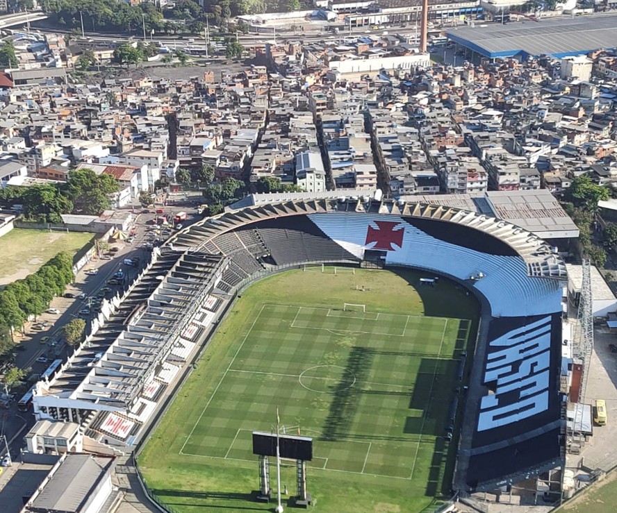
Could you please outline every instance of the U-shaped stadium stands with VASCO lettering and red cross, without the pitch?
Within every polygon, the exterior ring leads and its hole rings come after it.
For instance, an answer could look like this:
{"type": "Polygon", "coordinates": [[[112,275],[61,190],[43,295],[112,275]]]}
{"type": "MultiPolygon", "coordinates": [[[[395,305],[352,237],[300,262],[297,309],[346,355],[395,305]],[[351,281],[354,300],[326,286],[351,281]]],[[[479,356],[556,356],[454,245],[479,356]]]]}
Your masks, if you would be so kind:
{"type": "Polygon", "coordinates": [[[39,382],[42,418],[78,421],[101,446],[130,448],[252,280],[307,263],[413,267],[461,283],[482,303],[454,485],[491,490],[565,464],[559,394],[566,268],[506,221],[441,205],[370,198],[243,208],[177,233],[62,371],[39,382]]]}

